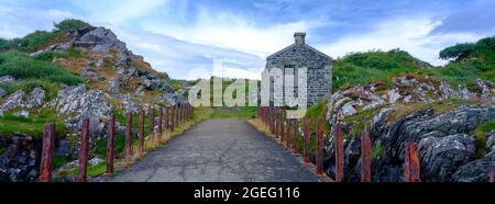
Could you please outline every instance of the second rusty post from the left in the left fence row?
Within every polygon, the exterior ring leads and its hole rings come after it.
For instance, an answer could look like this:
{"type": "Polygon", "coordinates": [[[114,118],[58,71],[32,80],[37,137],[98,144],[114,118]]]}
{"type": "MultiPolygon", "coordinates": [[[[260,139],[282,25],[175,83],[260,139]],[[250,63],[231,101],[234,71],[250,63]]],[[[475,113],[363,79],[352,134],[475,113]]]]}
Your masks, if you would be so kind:
{"type": "Polygon", "coordinates": [[[89,154],[89,118],[82,120],[80,128],[80,146],[79,146],[79,172],[77,174],[77,182],[88,181],[88,154],[89,154]]]}

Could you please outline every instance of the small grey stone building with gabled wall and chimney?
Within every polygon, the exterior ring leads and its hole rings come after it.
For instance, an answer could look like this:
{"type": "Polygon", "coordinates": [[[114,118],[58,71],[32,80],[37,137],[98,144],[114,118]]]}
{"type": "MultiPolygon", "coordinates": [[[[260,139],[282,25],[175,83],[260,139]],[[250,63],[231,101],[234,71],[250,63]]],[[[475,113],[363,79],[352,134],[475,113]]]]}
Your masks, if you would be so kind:
{"type": "MultiPolygon", "coordinates": [[[[331,65],[332,58],[309,46],[305,42],[306,33],[294,34],[295,42],[288,47],[268,56],[266,58],[265,72],[273,68],[279,68],[283,75],[294,75],[295,79],[302,79],[298,76],[299,68],[307,68],[307,105],[314,105],[322,99],[328,99],[331,92],[331,65]]],[[[285,87],[288,86],[286,77],[271,76],[263,77],[263,81],[270,80],[270,104],[274,105],[274,90],[282,95],[278,99],[286,99],[285,87]],[[283,86],[274,86],[275,80],[283,81],[283,86]]],[[[298,81],[294,80],[294,95],[297,98],[305,92],[298,92],[298,81]]],[[[284,101],[287,105],[287,101],[284,101]]],[[[292,106],[292,105],[289,105],[292,106]]]]}

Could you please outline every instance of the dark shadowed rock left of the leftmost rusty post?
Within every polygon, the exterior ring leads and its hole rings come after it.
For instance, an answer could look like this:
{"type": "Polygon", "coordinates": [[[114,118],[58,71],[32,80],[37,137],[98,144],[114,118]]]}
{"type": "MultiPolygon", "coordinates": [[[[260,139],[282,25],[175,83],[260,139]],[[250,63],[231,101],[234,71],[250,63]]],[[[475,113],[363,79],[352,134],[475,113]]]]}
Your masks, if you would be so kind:
{"type": "Polygon", "coordinates": [[[0,181],[34,181],[37,177],[33,138],[15,134],[0,158],[0,181]]]}

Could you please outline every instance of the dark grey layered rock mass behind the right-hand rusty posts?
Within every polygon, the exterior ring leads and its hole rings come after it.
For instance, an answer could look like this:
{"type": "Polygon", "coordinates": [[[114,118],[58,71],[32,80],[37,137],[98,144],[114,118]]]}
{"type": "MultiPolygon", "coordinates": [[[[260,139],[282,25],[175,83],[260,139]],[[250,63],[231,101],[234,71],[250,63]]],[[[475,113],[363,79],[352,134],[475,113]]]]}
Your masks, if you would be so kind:
{"type": "MultiPolygon", "coordinates": [[[[404,178],[404,147],[408,141],[419,145],[422,181],[461,181],[468,174],[486,170],[488,156],[474,160],[476,141],[470,135],[482,123],[495,121],[495,105],[464,105],[437,115],[432,109],[425,109],[400,117],[396,122],[387,120],[393,107],[378,111],[371,120],[371,140],[375,151],[372,174],[374,181],[402,181],[404,178]],[[474,160],[474,161],[473,161],[474,160]],[[476,172],[468,172],[462,167],[481,166],[476,172]],[[455,179],[454,178],[455,174],[455,179]]],[[[349,133],[348,125],[343,131],[349,133]]],[[[334,175],[334,143],[326,143],[326,168],[334,175]]],[[[348,135],[344,139],[345,180],[359,181],[360,140],[359,135],[348,135]]],[[[494,166],[492,166],[494,167],[494,166]]],[[[473,170],[474,171],[474,170],[473,170]]],[[[486,173],[486,172],[485,172],[486,173]]]]}

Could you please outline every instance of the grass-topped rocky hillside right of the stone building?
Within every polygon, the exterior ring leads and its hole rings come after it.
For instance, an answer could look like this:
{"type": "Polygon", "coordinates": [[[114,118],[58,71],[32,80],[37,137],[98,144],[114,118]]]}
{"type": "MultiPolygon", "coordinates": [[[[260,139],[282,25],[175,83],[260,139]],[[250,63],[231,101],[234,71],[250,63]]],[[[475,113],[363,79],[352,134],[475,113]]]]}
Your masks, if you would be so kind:
{"type": "MultiPolygon", "coordinates": [[[[351,54],[333,68],[334,110],[319,104],[310,117],[340,123],[345,138],[345,180],[358,181],[360,136],[371,128],[374,181],[400,181],[406,141],[419,144],[421,180],[486,181],[495,167],[495,38],[459,44],[422,63],[404,50],[351,54]]],[[[327,129],[328,132],[328,129],[327,129]]],[[[333,175],[333,139],[326,144],[333,175]]]]}

